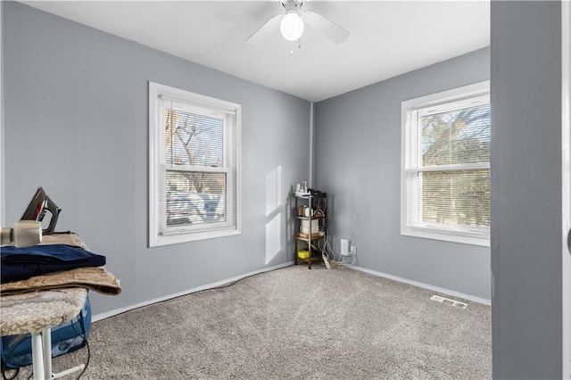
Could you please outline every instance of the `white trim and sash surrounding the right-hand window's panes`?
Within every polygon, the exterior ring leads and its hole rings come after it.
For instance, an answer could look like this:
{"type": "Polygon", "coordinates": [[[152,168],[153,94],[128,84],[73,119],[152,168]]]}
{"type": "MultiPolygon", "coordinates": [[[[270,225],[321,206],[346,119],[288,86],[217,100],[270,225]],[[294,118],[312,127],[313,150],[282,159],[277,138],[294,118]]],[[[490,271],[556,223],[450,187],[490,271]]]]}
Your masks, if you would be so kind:
{"type": "MultiPolygon", "coordinates": [[[[477,95],[488,95],[490,93],[490,81],[476,83],[473,85],[458,87],[448,91],[443,91],[437,94],[420,96],[415,99],[410,99],[401,103],[401,235],[421,237],[434,240],[442,240],[453,243],[472,244],[481,246],[490,246],[490,231],[489,228],[485,230],[478,230],[468,232],[465,230],[454,231],[453,228],[446,228],[443,226],[431,225],[426,223],[422,227],[412,227],[408,222],[409,215],[409,202],[408,202],[408,186],[407,174],[410,169],[417,171],[431,171],[430,168],[418,170],[418,168],[411,168],[410,146],[408,144],[408,133],[410,131],[409,120],[411,109],[421,109],[434,105],[441,109],[445,108],[447,102],[459,102],[462,98],[470,98],[477,95]]],[[[442,169],[489,169],[489,162],[481,162],[475,164],[460,164],[460,165],[447,165],[440,166],[434,170],[442,169]]]]}

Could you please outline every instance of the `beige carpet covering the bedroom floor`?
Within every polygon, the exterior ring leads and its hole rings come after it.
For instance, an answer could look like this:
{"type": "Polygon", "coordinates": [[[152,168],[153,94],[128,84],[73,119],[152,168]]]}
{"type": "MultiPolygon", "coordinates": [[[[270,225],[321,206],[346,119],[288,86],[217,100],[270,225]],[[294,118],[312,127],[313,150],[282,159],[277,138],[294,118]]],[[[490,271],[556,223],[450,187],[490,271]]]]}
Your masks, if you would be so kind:
{"type": "Polygon", "coordinates": [[[349,268],[277,269],[95,322],[81,378],[491,378],[490,307],[433,294],[349,268]]]}

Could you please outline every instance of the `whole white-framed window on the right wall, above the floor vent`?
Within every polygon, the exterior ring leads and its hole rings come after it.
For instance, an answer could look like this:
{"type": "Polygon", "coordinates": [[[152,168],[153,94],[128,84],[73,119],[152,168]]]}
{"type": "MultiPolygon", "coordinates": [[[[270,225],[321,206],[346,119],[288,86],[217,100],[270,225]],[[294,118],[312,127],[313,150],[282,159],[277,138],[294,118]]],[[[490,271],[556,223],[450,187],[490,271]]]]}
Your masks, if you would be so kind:
{"type": "Polygon", "coordinates": [[[401,234],[489,245],[489,82],[403,102],[401,112],[401,234]]]}

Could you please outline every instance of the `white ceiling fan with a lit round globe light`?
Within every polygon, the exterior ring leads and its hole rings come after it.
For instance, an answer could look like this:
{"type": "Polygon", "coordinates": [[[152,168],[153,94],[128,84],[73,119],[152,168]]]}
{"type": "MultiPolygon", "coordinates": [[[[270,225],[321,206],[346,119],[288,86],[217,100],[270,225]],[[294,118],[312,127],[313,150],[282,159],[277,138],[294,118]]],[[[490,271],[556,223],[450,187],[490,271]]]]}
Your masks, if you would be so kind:
{"type": "Polygon", "coordinates": [[[323,17],[318,12],[302,12],[303,0],[281,0],[280,3],[284,6],[285,13],[271,17],[269,21],[266,21],[258,30],[253,32],[252,36],[248,37],[247,42],[258,44],[273,33],[277,27],[279,27],[285,39],[295,41],[302,37],[306,24],[335,42],[335,44],[341,44],[349,37],[347,30],[323,17]]]}

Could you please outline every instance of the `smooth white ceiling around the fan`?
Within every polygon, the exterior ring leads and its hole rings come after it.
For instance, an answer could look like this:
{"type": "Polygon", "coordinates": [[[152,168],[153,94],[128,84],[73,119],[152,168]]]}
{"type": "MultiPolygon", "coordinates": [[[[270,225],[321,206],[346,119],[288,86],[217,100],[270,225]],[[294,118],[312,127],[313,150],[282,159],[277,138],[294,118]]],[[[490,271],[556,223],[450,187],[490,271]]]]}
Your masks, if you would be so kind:
{"type": "Polygon", "coordinates": [[[489,1],[306,1],[351,32],[246,38],[284,8],[261,1],[22,1],[266,87],[320,101],[490,45],[489,1]]]}

